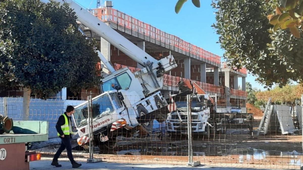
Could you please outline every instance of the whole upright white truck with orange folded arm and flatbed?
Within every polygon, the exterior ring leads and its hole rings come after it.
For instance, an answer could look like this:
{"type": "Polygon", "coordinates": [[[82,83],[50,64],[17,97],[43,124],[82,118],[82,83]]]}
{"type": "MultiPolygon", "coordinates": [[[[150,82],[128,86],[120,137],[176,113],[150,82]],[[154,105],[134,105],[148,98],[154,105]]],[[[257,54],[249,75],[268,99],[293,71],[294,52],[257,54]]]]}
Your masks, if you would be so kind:
{"type": "Polygon", "coordinates": [[[227,127],[249,123],[252,130],[252,113],[242,113],[238,108],[219,108],[217,96],[205,93],[193,81],[179,82],[180,92],[172,95],[171,100],[176,104],[176,110],[168,114],[166,121],[167,132],[171,138],[180,139],[187,132],[187,99],[191,94],[192,134],[198,139],[209,139],[210,135],[225,134],[227,127]]]}

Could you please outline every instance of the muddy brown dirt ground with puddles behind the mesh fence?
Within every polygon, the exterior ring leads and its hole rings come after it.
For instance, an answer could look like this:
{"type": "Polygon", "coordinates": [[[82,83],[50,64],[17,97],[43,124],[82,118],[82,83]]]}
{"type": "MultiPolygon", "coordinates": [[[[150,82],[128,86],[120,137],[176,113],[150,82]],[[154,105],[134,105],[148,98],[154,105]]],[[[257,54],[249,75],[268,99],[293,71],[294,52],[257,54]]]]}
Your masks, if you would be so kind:
{"type": "MultiPolygon", "coordinates": [[[[302,136],[275,134],[255,136],[262,116],[254,116],[253,133],[246,125],[231,125],[225,135],[193,140],[194,161],[203,165],[223,167],[300,169],[303,166],[302,136]],[[302,163],[301,163],[302,162],[302,163]]],[[[106,152],[95,147],[95,158],[110,162],[186,164],[188,140],[160,140],[157,133],[145,138],[118,137],[113,149],[106,152]]],[[[77,146],[77,144],[74,144],[77,146]]],[[[51,158],[59,145],[37,149],[43,157],[51,158]]],[[[79,149],[78,149],[79,150],[79,149]]],[[[87,159],[88,151],[73,151],[77,159],[87,159]]],[[[66,158],[66,153],[63,153],[66,158]]]]}

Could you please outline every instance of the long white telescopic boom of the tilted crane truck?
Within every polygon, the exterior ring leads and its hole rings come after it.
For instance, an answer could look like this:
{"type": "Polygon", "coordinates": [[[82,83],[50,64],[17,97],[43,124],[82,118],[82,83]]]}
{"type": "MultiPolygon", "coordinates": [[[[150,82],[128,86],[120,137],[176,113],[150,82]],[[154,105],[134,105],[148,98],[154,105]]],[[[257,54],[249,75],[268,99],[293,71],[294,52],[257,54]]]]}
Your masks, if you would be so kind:
{"type": "MultiPolygon", "coordinates": [[[[43,3],[48,3],[48,0],[40,0],[43,3]]],[[[73,0],[50,0],[52,2],[67,3],[78,16],[78,21],[83,25],[90,28],[92,31],[97,33],[100,37],[104,38],[110,44],[118,48],[128,57],[141,64],[145,69],[135,74],[136,77],[140,78],[140,83],[145,86],[147,90],[145,95],[154,93],[163,86],[164,73],[177,67],[175,59],[172,55],[156,60],[154,57],[140,49],[134,43],[123,37],[114,29],[103,23],[97,17],[88,12],[87,9],[78,5],[73,0]],[[143,75],[144,74],[144,75],[143,75]]]]}

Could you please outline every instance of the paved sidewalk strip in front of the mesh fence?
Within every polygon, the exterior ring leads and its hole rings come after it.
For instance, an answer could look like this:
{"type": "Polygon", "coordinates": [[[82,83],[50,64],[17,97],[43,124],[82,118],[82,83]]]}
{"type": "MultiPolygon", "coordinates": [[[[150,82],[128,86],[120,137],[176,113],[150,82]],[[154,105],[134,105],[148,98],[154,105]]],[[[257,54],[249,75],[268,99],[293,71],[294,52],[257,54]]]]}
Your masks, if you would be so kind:
{"type": "MultiPolygon", "coordinates": [[[[57,168],[51,165],[50,160],[40,160],[30,162],[29,168],[30,170],[62,170],[62,169],[75,169],[72,168],[72,164],[68,161],[59,161],[59,164],[62,165],[61,168],[57,168]]],[[[82,166],[78,169],[85,170],[134,170],[134,169],[142,169],[142,170],[151,170],[152,168],[157,168],[159,170],[252,170],[252,168],[218,168],[218,167],[210,167],[210,166],[198,166],[195,168],[186,167],[183,165],[165,165],[165,164],[128,164],[128,163],[110,163],[110,162],[97,162],[97,163],[86,163],[86,162],[78,162],[82,163],[82,166]]]]}

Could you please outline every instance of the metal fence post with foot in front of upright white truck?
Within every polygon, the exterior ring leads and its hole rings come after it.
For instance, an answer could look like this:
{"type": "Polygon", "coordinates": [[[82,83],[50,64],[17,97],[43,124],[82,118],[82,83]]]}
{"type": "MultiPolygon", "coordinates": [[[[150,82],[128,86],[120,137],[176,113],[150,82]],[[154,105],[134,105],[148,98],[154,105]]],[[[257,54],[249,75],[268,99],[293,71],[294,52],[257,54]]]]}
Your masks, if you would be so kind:
{"type": "Polygon", "coordinates": [[[200,161],[194,162],[191,129],[191,95],[187,95],[187,133],[188,133],[188,163],[187,166],[198,166],[200,161]]]}

